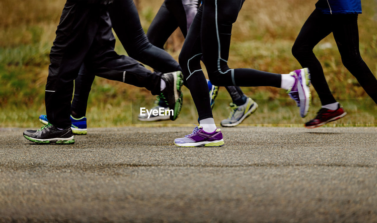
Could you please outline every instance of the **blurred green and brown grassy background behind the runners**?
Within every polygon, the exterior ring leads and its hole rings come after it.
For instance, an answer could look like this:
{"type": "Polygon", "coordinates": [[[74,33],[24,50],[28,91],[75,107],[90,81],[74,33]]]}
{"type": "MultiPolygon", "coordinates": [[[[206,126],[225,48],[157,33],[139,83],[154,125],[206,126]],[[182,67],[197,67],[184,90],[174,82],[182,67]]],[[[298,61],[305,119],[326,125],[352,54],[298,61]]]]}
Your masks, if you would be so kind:
{"type": "MultiPolygon", "coordinates": [[[[141,24],[147,31],[163,0],[135,0],[141,24]]],[[[291,47],[317,0],[246,0],[233,25],[229,66],[288,73],[301,68],[291,47]]],[[[44,88],[49,51],[65,0],[0,0],[0,127],[38,127],[45,114],[44,88]]],[[[377,0],[362,0],[359,15],[360,51],[377,75],[377,0]]],[[[169,38],[166,50],[178,60],[183,44],[180,31],[169,38]]],[[[120,42],[116,52],[127,54],[120,42]]],[[[334,97],[348,115],[328,126],[375,126],[377,106],[342,65],[333,35],[314,48],[334,97]]],[[[302,126],[315,116],[320,103],[314,88],[313,106],[307,118],[299,117],[293,100],[284,90],[270,87],[242,88],[259,104],[244,121],[248,125],[302,126]]],[[[139,126],[140,105],[152,106],[155,97],[142,88],[96,77],[89,96],[87,118],[90,127],[139,126]]],[[[196,123],[197,113],[190,92],[184,88],[184,105],[175,122],[147,125],[196,123]]],[[[220,88],[213,114],[216,123],[226,118],[230,97],[220,88]]],[[[145,125],[140,125],[145,126],[145,125]]]]}

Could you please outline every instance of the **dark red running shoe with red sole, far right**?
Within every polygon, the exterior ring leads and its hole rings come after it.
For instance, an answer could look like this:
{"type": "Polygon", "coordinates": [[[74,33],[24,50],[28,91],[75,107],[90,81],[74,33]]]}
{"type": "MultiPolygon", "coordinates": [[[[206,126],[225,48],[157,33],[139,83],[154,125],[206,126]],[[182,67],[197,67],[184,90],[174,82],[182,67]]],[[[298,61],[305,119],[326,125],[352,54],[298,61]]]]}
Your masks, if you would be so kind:
{"type": "Polygon", "coordinates": [[[330,121],[338,120],[339,118],[343,118],[347,112],[344,111],[343,107],[339,104],[338,109],[336,110],[329,110],[327,108],[321,108],[317,112],[317,116],[312,120],[305,123],[306,128],[317,128],[319,126],[323,126],[330,121]]]}

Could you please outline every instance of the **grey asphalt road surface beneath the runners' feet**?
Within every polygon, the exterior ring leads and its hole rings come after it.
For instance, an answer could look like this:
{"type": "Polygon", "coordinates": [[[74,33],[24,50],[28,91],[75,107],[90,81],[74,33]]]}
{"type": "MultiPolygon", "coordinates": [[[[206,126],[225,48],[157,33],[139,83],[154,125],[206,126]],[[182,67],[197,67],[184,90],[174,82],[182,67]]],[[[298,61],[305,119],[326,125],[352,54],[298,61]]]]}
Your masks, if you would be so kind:
{"type": "Polygon", "coordinates": [[[0,222],[377,222],[377,128],[93,128],[37,145],[0,128],[0,222]]]}

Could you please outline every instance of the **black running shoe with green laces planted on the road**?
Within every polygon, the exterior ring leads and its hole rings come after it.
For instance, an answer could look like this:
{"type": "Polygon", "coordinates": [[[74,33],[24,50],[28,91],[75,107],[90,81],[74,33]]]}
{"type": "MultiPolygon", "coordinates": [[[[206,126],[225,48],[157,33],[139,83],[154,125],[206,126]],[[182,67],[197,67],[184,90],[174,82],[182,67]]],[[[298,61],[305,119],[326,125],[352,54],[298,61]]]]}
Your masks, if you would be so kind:
{"type": "Polygon", "coordinates": [[[57,143],[57,144],[73,144],[75,143],[75,138],[73,136],[72,129],[68,126],[65,129],[58,129],[55,126],[48,123],[42,126],[41,129],[26,130],[23,132],[23,136],[28,140],[35,143],[57,143]]]}

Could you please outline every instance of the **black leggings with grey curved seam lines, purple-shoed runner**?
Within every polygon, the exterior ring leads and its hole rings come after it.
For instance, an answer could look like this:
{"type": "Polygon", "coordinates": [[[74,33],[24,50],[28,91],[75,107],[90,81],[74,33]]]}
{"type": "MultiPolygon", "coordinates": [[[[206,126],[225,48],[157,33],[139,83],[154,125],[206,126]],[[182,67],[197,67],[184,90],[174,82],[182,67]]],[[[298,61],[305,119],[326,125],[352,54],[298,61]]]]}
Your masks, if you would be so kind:
{"type": "Polygon", "coordinates": [[[212,118],[209,94],[200,59],[216,86],[273,86],[280,88],[281,75],[255,69],[230,69],[227,65],[232,24],[244,0],[204,0],[179,54],[199,120],[212,118]],[[195,88],[192,88],[195,86],[195,88]]]}

